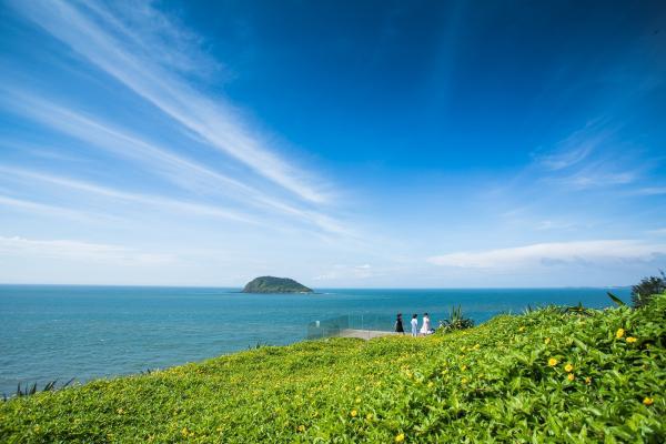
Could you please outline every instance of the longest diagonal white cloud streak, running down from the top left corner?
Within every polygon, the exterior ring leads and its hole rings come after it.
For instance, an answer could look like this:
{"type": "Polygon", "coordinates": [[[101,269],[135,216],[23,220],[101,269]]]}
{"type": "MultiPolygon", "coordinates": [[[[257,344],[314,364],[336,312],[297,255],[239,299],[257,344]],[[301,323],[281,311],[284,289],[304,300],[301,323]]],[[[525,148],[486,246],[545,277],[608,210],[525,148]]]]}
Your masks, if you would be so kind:
{"type": "MultiPolygon", "coordinates": [[[[310,202],[324,202],[326,196],[303,174],[270,150],[265,138],[252,130],[232,105],[221,98],[214,101],[198,92],[178,70],[170,69],[168,60],[180,57],[178,48],[149,40],[151,52],[172,54],[162,57],[161,63],[137,51],[137,41],[150,39],[120,20],[110,20],[102,7],[87,8],[65,1],[22,2],[12,4],[24,17],[47,32],[70,46],[91,63],[115,78],[137,94],[232,158],[250,167],[258,174],[290,190],[310,202]]],[[[128,9],[125,12],[131,12],[128,9]]],[[[152,10],[153,19],[158,11],[152,10]]],[[[141,16],[132,16],[141,20],[141,16]]],[[[169,20],[161,20],[172,27],[169,20]]],[[[150,27],[149,27],[150,29],[150,27]]],[[[173,32],[179,33],[179,30],[173,32]]]]}

